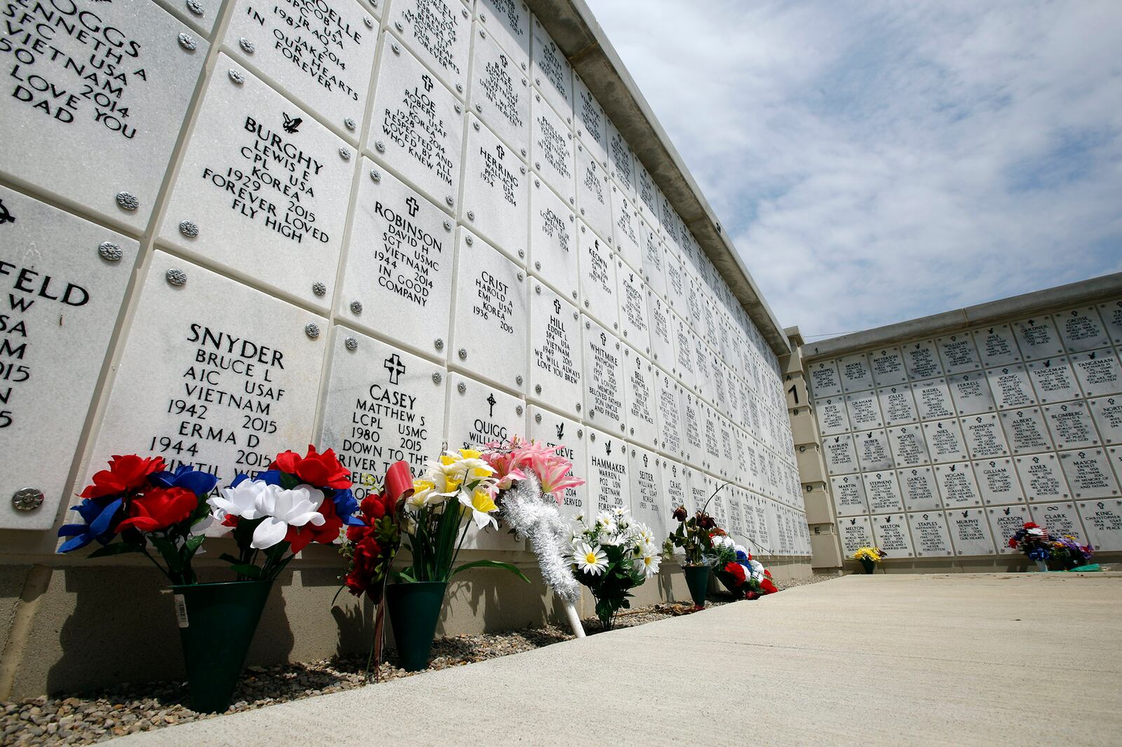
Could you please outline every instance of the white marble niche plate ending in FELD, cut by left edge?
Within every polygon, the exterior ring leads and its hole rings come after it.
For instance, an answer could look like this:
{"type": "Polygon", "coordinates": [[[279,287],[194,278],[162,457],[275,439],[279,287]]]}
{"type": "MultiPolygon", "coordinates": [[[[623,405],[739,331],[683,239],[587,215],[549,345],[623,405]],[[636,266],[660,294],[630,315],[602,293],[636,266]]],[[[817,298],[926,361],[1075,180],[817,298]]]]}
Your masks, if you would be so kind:
{"type": "Polygon", "coordinates": [[[139,247],[6,187],[0,213],[10,218],[0,223],[0,494],[36,488],[44,497],[31,510],[6,499],[0,527],[46,529],[58,514],[139,247]]]}

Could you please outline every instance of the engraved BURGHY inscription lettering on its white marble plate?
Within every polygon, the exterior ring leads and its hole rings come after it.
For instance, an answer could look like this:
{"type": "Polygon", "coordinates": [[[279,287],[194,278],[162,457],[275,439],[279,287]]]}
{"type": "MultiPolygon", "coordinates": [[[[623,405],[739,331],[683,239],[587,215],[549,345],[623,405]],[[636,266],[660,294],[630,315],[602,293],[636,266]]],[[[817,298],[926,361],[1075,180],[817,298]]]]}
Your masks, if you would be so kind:
{"type": "Polygon", "coordinates": [[[203,179],[229,193],[230,210],[242,218],[260,221],[296,243],[305,237],[328,243],[331,237],[314,224],[315,213],[304,205],[315,199],[313,181],[323,164],[252,116],[246,117],[242,129],[254,136],[238,149],[246,163],[204,166],[203,179]]]}

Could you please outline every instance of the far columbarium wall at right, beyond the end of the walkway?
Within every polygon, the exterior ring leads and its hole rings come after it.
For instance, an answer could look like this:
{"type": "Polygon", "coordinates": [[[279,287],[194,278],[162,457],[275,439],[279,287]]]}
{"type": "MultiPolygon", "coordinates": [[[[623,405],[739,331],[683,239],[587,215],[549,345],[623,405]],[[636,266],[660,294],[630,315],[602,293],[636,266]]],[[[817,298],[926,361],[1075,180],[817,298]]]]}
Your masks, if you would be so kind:
{"type": "Polygon", "coordinates": [[[1029,520],[1122,556],[1122,274],[819,342],[791,332],[816,568],[876,544],[888,571],[1014,569],[1006,541],[1029,520]]]}

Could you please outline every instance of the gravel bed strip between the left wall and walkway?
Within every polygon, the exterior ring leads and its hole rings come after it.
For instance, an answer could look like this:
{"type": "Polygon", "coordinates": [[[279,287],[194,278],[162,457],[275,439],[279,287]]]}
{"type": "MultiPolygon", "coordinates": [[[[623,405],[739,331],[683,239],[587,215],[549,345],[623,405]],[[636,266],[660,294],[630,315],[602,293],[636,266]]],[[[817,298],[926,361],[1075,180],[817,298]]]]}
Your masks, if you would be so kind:
{"type": "MultiPolygon", "coordinates": [[[[785,581],[783,587],[825,581],[830,577],[813,577],[785,581]]],[[[710,594],[708,607],[730,602],[730,594],[710,594]]],[[[628,628],[668,617],[689,615],[689,605],[659,603],[625,610],[617,616],[615,627],[628,628]]],[[[589,635],[600,631],[596,618],[583,620],[589,635]]],[[[511,633],[438,638],[432,647],[432,662],[426,672],[463,666],[472,662],[517,654],[572,638],[570,630],[546,626],[511,633]]],[[[395,653],[386,651],[378,671],[380,681],[420,674],[396,666],[395,653]]],[[[273,703],[322,695],[361,688],[366,655],[332,657],[320,662],[249,666],[233,694],[228,713],[248,711],[273,703]]],[[[373,684],[373,682],[371,682],[373,684]]],[[[125,683],[117,688],[81,695],[28,698],[0,702],[0,746],[8,745],[89,745],[137,731],[148,731],[175,723],[213,718],[196,713],[186,706],[183,682],[125,683]]]]}

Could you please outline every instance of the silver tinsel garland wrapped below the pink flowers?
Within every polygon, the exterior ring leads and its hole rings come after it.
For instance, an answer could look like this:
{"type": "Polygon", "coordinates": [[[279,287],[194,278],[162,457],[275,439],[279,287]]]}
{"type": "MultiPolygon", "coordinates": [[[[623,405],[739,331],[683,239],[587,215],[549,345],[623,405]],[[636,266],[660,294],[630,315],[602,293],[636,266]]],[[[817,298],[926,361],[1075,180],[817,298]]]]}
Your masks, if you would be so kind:
{"type": "Polygon", "coordinates": [[[569,561],[569,525],[561,518],[557,501],[542,494],[537,476],[527,471],[525,480],[503,491],[499,505],[503,520],[530,540],[545,584],[565,602],[576,605],[580,584],[569,561]]]}

